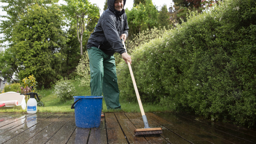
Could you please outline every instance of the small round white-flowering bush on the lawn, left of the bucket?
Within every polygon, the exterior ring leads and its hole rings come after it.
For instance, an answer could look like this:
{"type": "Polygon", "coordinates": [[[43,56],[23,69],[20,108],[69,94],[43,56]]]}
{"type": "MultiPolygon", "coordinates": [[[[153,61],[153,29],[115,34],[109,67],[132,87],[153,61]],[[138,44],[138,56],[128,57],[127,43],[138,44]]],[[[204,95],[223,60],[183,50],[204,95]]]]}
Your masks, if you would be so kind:
{"type": "Polygon", "coordinates": [[[71,83],[71,80],[68,80],[67,77],[57,81],[54,87],[54,95],[57,95],[60,100],[65,101],[73,99],[75,87],[74,84],[71,83]]]}

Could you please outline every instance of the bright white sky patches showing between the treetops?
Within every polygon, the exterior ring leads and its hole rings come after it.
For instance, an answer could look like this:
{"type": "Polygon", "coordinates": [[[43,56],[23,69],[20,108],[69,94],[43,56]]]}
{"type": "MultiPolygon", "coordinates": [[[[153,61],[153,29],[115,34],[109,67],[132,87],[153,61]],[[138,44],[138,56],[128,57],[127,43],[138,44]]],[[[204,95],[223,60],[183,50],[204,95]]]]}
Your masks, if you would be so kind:
{"type": "MultiPolygon", "coordinates": [[[[106,0],[89,0],[92,4],[96,4],[100,8],[100,15],[103,13],[103,8],[106,0]]],[[[158,10],[161,10],[161,7],[166,4],[167,9],[173,5],[172,0],[152,0],[152,3],[158,7],[158,10]]],[[[65,4],[63,0],[60,0],[58,4],[65,4]]],[[[6,12],[3,12],[3,9],[1,6],[5,6],[7,3],[0,2],[0,15],[6,15],[6,12]]],[[[127,0],[124,8],[128,8],[129,10],[132,9],[133,6],[133,0],[127,0]]],[[[0,18],[0,20],[4,20],[3,18],[0,18]]],[[[0,34],[0,39],[3,37],[3,34],[0,34]]]]}

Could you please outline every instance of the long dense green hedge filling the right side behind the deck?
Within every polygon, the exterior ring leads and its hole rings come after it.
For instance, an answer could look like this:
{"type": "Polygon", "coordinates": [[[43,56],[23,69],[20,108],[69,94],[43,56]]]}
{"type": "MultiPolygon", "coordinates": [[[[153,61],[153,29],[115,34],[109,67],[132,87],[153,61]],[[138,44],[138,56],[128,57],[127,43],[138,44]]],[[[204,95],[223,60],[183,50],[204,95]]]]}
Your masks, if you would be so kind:
{"type": "MultiPolygon", "coordinates": [[[[144,102],[212,120],[256,125],[256,2],[226,0],[132,53],[144,102]]],[[[117,67],[121,100],[136,101],[128,66],[117,67]]]]}

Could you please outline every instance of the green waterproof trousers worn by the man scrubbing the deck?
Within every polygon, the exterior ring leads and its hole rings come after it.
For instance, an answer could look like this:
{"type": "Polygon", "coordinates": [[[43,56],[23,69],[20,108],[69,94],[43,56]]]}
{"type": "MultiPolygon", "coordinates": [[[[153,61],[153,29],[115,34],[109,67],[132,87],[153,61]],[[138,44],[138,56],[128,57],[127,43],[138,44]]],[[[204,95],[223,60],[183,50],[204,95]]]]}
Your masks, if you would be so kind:
{"type": "Polygon", "coordinates": [[[97,47],[87,49],[91,70],[91,95],[103,93],[107,109],[121,108],[114,56],[105,54],[97,47]]]}

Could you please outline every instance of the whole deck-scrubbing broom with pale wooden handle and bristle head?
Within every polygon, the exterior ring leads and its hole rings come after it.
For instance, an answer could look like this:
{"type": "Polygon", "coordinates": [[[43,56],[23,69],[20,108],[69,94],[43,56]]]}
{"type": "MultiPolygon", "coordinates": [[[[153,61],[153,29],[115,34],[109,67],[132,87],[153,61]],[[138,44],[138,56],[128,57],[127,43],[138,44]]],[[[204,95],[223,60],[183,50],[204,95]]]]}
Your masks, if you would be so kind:
{"type": "MultiPolygon", "coordinates": [[[[124,39],[122,39],[122,43],[124,45],[124,39]]],[[[126,51],[125,45],[124,45],[124,49],[126,51]]],[[[126,51],[126,53],[127,53],[127,51],[126,51]]],[[[128,63],[128,67],[129,67],[129,70],[130,70],[131,77],[132,77],[132,83],[133,83],[133,86],[134,86],[134,89],[135,89],[137,100],[139,102],[140,112],[141,112],[143,123],[144,123],[144,128],[142,128],[142,129],[135,129],[134,130],[134,135],[137,136],[137,135],[162,134],[163,132],[162,132],[162,128],[161,127],[159,127],[159,128],[150,128],[149,125],[148,125],[148,120],[147,120],[147,117],[145,115],[144,109],[142,107],[139,91],[138,91],[138,88],[137,88],[137,85],[135,83],[135,79],[134,79],[134,76],[133,76],[133,73],[132,73],[131,64],[130,64],[130,62],[127,62],[127,63],[128,63]]]]}

